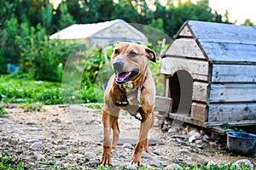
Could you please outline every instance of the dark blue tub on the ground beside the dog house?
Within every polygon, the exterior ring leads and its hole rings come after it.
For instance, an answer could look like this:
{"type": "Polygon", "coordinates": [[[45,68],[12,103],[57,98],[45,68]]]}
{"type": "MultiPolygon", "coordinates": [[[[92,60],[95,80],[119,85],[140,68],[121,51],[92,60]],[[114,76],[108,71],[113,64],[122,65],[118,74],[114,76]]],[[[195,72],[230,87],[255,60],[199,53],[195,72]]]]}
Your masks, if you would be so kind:
{"type": "Polygon", "coordinates": [[[253,133],[227,132],[227,146],[230,151],[254,155],[256,153],[256,135],[253,133]]]}

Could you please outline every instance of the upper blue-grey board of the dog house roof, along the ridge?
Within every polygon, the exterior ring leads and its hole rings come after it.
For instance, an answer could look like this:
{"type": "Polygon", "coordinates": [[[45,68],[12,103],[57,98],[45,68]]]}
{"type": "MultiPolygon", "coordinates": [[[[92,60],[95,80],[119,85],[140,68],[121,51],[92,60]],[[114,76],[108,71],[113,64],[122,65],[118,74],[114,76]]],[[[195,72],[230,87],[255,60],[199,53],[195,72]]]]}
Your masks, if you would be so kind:
{"type": "Polygon", "coordinates": [[[196,38],[207,42],[256,44],[256,28],[213,22],[189,20],[190,30],[196,38]]]}

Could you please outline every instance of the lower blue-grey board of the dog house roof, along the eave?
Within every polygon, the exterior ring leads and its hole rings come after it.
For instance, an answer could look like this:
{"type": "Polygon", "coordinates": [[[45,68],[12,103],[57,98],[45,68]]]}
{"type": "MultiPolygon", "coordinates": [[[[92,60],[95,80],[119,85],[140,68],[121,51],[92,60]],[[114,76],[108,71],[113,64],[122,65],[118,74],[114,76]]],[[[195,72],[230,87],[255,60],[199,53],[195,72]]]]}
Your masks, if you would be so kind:
{"type": "MultiPolygon", "coordinates": [[[[201,48],[212,62],[253,63],[256,62],[256,45],[227,42],[201,42],[201,48]]],[[[255,41],[256,42],[256,41],[255,41]]]]}

